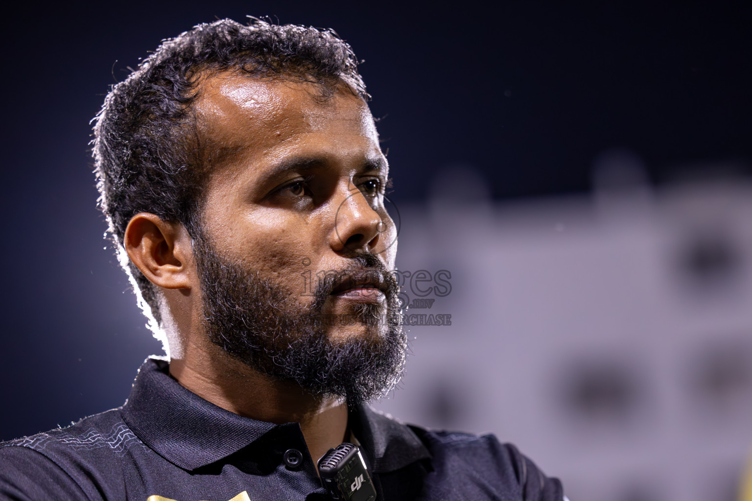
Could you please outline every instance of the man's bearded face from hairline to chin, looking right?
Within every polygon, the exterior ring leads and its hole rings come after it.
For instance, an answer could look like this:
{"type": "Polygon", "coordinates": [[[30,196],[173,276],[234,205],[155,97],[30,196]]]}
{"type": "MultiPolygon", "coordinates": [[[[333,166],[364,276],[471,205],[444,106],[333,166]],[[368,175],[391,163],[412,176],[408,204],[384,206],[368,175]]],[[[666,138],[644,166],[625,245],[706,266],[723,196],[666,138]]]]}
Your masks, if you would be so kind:
{"type": "Polygon", "coordinates": [[[334,380],[390,385],[404,361],[388,321],[399,301],[387,161],[360,98],[316,92],[233,74],[203,84],[199,137],[214,158],[194,251],[215,343],[270,376],[365,400],[378,388],[334,380]],[[329,382],[288,367],[306,364],[329,382]]]}

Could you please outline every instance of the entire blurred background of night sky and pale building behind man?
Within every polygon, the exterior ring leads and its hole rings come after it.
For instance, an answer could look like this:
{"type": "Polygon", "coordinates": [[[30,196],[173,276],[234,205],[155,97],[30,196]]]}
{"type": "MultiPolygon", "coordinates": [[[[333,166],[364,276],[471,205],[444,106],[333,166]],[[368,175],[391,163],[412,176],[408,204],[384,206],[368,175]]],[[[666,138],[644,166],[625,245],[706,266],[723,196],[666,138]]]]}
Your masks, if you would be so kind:
{"type": "Polygon", "coordinates": [[[496,433],[573,501],[736,499],[752,452],[741,2],[15,5],[0,439],[122,405],[161,353],[102,240],[89,119],[162,38],[245,14],[332,27],[365,59],[408,313],[428,323],[379,409],[496,433]]]}

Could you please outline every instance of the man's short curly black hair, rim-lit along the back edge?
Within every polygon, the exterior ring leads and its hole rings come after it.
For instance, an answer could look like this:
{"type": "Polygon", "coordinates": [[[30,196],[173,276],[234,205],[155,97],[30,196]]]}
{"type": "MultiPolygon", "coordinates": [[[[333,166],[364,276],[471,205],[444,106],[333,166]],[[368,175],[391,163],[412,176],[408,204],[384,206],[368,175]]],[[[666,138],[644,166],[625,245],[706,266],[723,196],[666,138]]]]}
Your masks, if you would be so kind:
{"type": "Polygon", "coordinates": [[[369,99],[353,50],[333,30],[249,18],[247,26],[218,20],[162,41],[136,71],[112,87],[93,119],[94,172],[107,235],[129,274],[138,306],[160,338],[159,294],[130,262],[123,236],[130,219],[141,212],[179,222],[193,238],[200,231],[202,186],[211,169],[211,154],[200,144],[192,109],[202,75],[236,71],[305,81],[317,87],[315,96],[323,100],[344,84],[369,99]]]}

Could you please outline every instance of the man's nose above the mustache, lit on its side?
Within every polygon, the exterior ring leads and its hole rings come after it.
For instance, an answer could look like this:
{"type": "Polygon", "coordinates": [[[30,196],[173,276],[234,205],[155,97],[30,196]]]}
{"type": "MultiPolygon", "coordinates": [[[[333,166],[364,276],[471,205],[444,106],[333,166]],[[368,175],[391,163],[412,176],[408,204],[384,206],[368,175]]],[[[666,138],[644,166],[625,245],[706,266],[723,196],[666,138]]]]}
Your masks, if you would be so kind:
{"type": "Polygon", "coordinates": [[[329,245],[335,252],[350,252],[356,249],[373,251],[378,245],[387,222],[371,207],[360,191],[345,189],[335,202],[334,231],[329,236],[329,245]]]}

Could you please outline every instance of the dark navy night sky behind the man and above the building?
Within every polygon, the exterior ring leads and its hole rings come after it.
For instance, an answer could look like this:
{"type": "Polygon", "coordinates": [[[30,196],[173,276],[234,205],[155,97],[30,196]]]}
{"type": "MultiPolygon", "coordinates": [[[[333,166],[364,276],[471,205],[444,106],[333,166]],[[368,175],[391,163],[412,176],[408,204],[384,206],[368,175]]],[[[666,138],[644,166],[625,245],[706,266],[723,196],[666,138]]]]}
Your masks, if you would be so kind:
{"type": "Polygon", "coordinates": [[[102,249],[89,119],[162,38],[245,14],[331,26],[365,59],[398,201],[448,164],[516,198],[587,191],[614,147],[657,183],[752,161],[748,3],[27,2],[3,32],[0,439],[120,405],[158,351],[102,249]]]}

